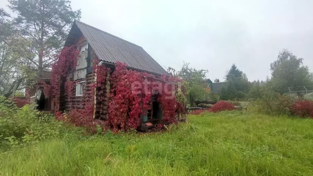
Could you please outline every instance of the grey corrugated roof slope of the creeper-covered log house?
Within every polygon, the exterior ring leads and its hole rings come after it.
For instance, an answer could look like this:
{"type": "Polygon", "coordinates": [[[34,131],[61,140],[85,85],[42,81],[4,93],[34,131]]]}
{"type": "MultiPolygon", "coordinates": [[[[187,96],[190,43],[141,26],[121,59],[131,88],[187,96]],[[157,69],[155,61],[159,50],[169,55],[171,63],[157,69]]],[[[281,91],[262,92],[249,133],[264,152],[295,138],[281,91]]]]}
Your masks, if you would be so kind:
{"type": "Polygon", "coordinates": [[[120,61],[126,63],[130,68],[156,74],[167,74],[167,71],[142,47],[78,20],[74,21],[75,24],[100,60],[109,63],[120,61]]]}

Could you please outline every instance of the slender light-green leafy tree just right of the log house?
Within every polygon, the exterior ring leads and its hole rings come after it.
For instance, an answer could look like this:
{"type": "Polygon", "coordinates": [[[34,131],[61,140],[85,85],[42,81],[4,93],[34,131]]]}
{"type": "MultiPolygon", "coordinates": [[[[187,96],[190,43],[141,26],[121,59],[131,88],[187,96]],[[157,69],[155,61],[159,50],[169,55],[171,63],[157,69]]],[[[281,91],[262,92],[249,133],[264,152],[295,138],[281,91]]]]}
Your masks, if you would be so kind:
{"type": "Polygon", "coordinates": [[[194,106],[194,101],[203,98],[205,91],[205,74],[207,70],[195,69],[189,67],[189,63],[183,64],[181,70],[177,73],[177,76],[182,78],[185,82],[187,89],[187,100],[190,106],[194,106]]]}

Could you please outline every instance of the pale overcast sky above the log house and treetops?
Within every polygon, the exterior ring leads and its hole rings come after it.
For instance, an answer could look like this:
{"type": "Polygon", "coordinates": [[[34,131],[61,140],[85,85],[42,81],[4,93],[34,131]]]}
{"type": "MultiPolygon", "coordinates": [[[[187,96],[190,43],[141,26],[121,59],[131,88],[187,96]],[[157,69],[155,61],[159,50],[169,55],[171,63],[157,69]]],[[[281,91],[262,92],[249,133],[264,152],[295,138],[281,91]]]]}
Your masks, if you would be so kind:
{"type": "Polygon", "coordinates": [[[250,81],[264,80],[286,48],[313,71],[313,0],[72,0],[72,8],[164,68],[185,61],[222,81],[235,63],[250,81]]]}

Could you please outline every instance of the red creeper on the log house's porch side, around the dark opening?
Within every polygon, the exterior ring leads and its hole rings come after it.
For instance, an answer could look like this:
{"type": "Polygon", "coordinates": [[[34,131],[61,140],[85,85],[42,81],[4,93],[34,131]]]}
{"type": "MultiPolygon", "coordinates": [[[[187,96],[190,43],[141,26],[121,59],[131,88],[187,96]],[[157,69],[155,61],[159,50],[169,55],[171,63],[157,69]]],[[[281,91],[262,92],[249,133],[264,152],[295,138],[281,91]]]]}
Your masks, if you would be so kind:
{"type": "Polygon", "coordinates": [[[182,91],[175,91],[175,84],[166,87],[168,81],[179,80],[163,75],[164,82],[160,83],[162,84],[160,88],[156,82],[148,83],[149,79],[153,80],[153,78],[153,75],[147,73],[128,70],[125,63],[115,64],[115,70],[110,77],[111,95],[105,122],[110,129],[113,131],[136,129],[140,124],[140,115],[145,114],[146,109],[151,105],[152,89],[159,92],[158,101],[161,103],[164,120],[175,122],[176,111],[184,113],[185,99],[182,91]]]}

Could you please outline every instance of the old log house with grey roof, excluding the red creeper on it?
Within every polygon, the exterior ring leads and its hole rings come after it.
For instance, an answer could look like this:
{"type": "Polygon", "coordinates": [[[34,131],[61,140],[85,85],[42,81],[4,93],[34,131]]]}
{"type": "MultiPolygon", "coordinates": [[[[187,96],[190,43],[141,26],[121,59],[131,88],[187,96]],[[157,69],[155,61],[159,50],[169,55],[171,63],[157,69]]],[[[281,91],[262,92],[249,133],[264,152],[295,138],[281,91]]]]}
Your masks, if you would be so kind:
{"type": "MultiPolygon", "coordinates": [[[[164,79],[161,79],[164,77],[161,76],[169,75],[142,47],[78,20],[74,21],[65,42],[65,47],[73,45],[79,49],[80,57],[77,58],[77,66],[74,72],[69,74],[67,78],[62,78],[59,98],[54,100],[58,103],[57,105],[51,105],[53,107],[52,111],[56,108],[60,112],[84,109],[88,103],[93,101],[93,118],[105,120],[109,112],[111,96],[114,94],[111,92],[110,77],[115,70],[116,63],[126,63],[127,69],[151,75],[149,77],[150,81],[156,80],[165,83],[164,79]],[[101,88],[92,87],[97,82],[97,78],[101,76],[95,74],[96,68],[92,65],[95,61],[98,61],[96,62],[98,66],[103,65],[105,68],[110,68],[105,73],[101,73],[106,77],[106,81],[101,85],[101,88]],[[66,80],[74,81],[76,84],[74,92],[71,93],[72,95],[68,95],[66,80]],[[86,91],[93,90],[93,88],[95,89],[94,94],[84,95],[86,91]]],[[[146,109],[146,115],[140,116],[138,128],[146,130],[157,124],[167,123],[165,122],[166,119],[163,119],[158,96],[158,94],[151,96],[151,107],[146,109]]],[[[174,107],[177,108],[177,106],[174,107]]],[[[176,110],[176,112],[178,111],[176,110]]],[[[179,117],[179,113],[177,116],[179,117]]]]}

